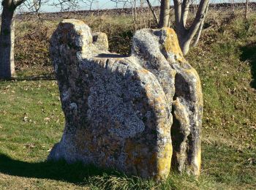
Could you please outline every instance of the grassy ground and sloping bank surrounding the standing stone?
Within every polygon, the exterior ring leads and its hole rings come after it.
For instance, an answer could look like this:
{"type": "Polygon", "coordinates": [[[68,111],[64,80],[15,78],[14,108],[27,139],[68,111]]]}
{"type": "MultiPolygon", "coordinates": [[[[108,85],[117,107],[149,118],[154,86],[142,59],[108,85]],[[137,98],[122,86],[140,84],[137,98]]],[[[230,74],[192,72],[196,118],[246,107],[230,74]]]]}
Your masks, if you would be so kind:
{"type": "MultiPolygon", "coordinates": [[[[129,18],[84,20],[108,34],[110,50],[129,54],[129,18]]],[[[35,23],[17,25],[18,77],[0,81],[0,189],[256,189],[254,15],[247,21],[213,15],[206,20],[212,27],[187,56],[203,85],[201,175],[196,180],[173,172],[164,183],[80,163],[45,161],[64,128],[48,58],[48,40],[57,23],[45,22],[39,31],[35,23]]]]}

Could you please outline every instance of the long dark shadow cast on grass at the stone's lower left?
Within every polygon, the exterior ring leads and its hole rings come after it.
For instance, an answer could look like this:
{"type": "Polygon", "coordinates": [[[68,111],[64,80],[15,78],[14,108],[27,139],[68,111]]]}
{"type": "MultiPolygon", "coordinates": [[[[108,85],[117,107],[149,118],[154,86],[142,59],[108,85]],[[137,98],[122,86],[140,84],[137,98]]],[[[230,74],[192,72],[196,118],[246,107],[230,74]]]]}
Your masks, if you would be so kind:
{"type": "Polygon", "coordinates": [[[29,163],[12,159],[4,154],[0,154],[0,172],[25,178],[62,180],[79,185],[86,185],[86,179],[97,175],[122,176],[113,170],[102,170],[94,166],[84,166],[82,163],[67,164],[65,161],[29,163]]]}

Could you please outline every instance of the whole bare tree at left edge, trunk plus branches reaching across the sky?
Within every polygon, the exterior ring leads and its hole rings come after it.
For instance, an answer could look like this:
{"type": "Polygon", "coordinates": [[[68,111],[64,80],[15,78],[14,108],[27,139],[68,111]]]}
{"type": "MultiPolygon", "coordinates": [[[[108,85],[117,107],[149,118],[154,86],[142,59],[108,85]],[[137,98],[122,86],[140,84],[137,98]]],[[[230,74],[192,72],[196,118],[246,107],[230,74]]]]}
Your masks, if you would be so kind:
{"type": "MultiPolygon", "coordinates": [[[[78,7],[80,2],[89,2],[90,6],[96,0],[56,0],[53,4],[60,9],[78,7]]],[[[42,3],[49,0],[2,0],[1,31],[0,31],[0,79],[10,79],[15,76],[14,44],[15,44],[15,10],[21,4],[29,12],[38,12],[42,3]]]]}

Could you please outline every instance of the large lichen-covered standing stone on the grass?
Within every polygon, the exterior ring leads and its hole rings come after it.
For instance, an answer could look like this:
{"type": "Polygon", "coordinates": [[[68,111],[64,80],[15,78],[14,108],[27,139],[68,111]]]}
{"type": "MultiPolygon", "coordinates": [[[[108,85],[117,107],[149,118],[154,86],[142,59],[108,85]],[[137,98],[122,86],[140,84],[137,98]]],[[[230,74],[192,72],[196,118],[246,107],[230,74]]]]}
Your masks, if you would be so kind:
{"type": "Polygon", "coordinates": [[[110,53],[105,34],[64,20],[50,54],[66,119],[49,160],[83,161],[142,178],[170,168],[199,175],[203,96],[173,29],[143,29],[129,57],[110,53]]]}

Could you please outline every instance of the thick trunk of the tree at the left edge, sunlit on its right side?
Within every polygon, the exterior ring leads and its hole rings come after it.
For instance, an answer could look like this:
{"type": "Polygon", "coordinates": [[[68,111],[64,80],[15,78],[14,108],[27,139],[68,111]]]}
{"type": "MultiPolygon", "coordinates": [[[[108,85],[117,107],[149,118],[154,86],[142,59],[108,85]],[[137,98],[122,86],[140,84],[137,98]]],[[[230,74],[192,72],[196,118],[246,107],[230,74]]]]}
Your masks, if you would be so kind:
{"type": "Polygon", "coordinates": [[[10,79],[15,75],[14,41],[14,9],[3,6],[0,33],[0,78],[10,79]]]}

